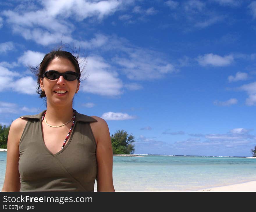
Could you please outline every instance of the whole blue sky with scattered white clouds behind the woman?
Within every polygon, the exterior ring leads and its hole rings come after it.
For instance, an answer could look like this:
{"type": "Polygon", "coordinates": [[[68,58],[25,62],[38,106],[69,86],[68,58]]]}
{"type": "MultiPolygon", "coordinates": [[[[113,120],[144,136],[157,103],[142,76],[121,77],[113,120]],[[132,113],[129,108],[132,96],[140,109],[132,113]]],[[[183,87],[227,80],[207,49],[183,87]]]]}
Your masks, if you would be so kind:
{"type": "Polygon", "coordinates": [[[62,42],[80,48],[85,67],[74,109],[104,118],[110,134],[133,134],[136,154],[252,155],[256,1],[10,0],[0,7],[1,124],[46,109],[27,66],[62,42]]]}

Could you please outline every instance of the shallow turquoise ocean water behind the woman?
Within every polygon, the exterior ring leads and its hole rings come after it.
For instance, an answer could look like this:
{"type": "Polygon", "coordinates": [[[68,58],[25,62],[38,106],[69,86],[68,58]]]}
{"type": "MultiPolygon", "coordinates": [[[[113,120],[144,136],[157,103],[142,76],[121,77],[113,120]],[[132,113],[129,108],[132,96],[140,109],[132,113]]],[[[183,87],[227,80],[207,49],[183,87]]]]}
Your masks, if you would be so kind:
{"type": "MultiPolygon", "coordinates": [[[[0,188],[4,181],[6,154],[0,152],[0,188]]],[[[113,157],[115,191],[196,191],[256,180],[255,158],[141,156],[113,157]]]]}

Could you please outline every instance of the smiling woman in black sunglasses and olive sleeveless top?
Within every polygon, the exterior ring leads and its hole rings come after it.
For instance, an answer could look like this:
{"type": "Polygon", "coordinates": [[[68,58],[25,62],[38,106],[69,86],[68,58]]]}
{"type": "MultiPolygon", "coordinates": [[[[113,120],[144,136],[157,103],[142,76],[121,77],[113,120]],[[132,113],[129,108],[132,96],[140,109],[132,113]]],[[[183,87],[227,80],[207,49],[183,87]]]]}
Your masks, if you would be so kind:
{"type": "Polygon", "coordinates": [[[80,86],[76,57],[59,48],[38,69],[38,94],[47,109],[10,126],[2,191],[115,191],[107,123],[72,108],[80,86]]]}

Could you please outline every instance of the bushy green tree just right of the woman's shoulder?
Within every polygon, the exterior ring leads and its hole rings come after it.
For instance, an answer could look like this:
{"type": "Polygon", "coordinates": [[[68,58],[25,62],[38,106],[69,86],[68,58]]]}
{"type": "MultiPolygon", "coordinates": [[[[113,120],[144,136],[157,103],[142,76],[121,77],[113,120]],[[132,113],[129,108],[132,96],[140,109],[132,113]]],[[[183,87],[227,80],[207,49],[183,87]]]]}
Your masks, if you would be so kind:
{"type": "Polygon", "coordinates": [[[113,154],[133,154],[135,138],[132,134],[128,135],[125,130],[117,130],[111,135],[113,154]]]}

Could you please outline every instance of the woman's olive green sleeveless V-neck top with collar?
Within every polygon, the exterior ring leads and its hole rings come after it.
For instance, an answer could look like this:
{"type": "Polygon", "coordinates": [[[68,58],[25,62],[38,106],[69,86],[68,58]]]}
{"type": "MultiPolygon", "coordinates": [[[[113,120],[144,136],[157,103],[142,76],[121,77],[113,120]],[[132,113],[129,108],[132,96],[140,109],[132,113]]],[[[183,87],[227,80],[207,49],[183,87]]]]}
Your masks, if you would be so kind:
{"type": "Polygon", "coordinates": [[[90,122],[76,112],[70,138],[52,154],[42,136],[42,115],[21,116],[27,123],[19,142],[20,191],[94,191],[96,143],[90,122]]]}

